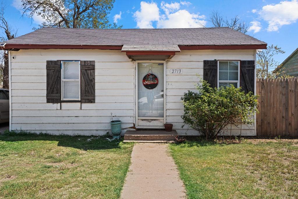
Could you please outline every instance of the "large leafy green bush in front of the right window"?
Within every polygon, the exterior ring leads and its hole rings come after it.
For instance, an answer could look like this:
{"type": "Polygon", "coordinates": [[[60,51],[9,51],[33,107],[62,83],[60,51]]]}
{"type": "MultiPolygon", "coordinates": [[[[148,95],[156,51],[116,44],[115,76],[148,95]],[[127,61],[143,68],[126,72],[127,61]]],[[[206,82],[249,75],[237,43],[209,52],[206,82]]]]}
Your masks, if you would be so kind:
{"type": "Polygon", "coordinates": [[[221,135],[228,125],[252,124],[257,112],[258,95],[245,94],[241,88],[211,88],[207,81],[200,80],[198,92],[189,91],[181,98],[184,115],[181,118],[201,135],[214,138],[221,135]]]}

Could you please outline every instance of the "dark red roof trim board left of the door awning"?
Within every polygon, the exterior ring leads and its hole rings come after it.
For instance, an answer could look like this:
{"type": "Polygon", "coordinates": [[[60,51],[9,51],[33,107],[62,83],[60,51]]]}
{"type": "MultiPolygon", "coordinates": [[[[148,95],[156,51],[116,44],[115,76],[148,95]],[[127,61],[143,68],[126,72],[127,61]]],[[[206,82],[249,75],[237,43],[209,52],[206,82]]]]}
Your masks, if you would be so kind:
{"type": "Polygon", "coordinates": [[[121,50],[122,46],[6,44],[3,49],[4,50],[8,50],[8,49],[102,49],[102,50],[121,50]]]}

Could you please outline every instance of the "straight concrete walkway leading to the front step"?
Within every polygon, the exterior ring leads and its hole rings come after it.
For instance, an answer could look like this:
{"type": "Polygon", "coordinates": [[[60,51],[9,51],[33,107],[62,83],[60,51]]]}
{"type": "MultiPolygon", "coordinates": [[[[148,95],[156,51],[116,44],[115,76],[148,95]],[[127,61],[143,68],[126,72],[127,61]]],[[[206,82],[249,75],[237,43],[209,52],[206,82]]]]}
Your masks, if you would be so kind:
{"type": "Polygon", "coordinates": [[[167,144],[137,143],[121,198],[186,198],[167,144]]]}

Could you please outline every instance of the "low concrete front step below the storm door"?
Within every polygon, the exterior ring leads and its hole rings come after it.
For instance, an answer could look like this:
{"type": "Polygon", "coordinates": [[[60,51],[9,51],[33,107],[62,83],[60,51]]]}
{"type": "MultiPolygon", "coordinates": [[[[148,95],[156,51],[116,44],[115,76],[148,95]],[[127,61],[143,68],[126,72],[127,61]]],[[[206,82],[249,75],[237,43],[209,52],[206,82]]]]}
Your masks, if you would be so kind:
{"type": "Polygon", "coordinates": [[[163,130],[137,130],[126,131],[124,141],[175,141],[176,131],[166,132],[163,130]]]}

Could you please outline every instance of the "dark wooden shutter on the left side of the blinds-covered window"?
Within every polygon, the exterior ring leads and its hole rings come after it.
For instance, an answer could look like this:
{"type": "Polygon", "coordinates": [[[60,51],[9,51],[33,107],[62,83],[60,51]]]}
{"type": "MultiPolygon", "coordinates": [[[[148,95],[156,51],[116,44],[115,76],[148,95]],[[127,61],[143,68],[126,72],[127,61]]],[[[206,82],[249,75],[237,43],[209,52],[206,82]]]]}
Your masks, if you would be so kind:
{"type": "Polygon", "coordinates": [[[46,102],[61,102],[61,61],[46,61],[46,102]]]}

